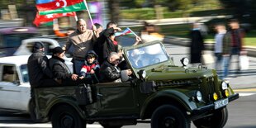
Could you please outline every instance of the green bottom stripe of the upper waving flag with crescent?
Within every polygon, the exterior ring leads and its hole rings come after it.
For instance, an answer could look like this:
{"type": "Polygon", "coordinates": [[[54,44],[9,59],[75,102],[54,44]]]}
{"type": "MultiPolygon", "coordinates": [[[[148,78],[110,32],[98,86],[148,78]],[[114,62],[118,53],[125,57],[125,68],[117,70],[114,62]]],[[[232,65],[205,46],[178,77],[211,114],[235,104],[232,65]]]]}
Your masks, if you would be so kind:
{"type": "Polygon", "coordinates": [[[64,13],[64,12],[77,12],[77,11],[81,11],[81,10],[87,10],[87,8],[85,7],[83,2],[79,2],[72,6],[58,8],[55,10],[44,11],[44,12],[39,11],[39,15],[47,15],[47,14],[52,14],[52,13],[64,13]]]}

